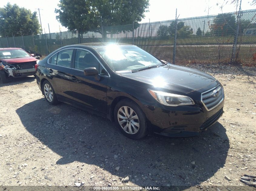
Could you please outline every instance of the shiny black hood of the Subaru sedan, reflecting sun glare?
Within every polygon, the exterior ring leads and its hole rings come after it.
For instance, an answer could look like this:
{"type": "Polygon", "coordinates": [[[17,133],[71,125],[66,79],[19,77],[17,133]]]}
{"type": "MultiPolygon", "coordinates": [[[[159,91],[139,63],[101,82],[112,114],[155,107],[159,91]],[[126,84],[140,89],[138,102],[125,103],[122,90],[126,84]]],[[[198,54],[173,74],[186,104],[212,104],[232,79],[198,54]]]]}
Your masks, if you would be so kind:
{"type": "MultiPolygon", "coordinates": [[[[196,69],[168,64],[131,74],[121,74],[126,78],[144,82],[155,88],[165,88],[188,93],[218,82],[213,76],[196,69]]],[[[216,83],[217,84],[217,83],[216,83]]]]}

